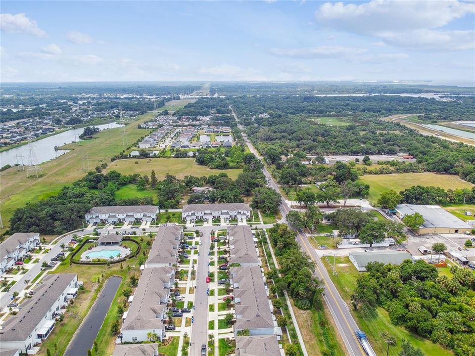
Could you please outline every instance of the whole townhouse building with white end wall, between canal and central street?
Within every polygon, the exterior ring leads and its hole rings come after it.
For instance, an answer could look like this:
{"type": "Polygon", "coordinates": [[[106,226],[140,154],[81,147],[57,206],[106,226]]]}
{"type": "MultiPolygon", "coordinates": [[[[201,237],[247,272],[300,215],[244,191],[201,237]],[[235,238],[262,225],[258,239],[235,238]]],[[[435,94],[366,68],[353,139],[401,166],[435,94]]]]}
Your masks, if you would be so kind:
{"type": "Polygon", "coordinates": [[[163,319],[174,283],[174,267],[143,269],[130,308],[123,316],[122,342],[148,341],[150,332],[157,334],[160,341],[163,339],[163,319]]]}

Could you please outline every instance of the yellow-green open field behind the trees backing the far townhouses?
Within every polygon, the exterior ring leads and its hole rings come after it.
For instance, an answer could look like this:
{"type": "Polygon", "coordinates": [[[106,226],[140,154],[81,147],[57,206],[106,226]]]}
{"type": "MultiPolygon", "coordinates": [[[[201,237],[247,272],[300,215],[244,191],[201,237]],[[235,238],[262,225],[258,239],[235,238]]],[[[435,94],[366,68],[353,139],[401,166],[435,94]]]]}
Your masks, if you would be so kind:
{"type": "Polygon", "coordinates": [[[211,176],[226,173],[230,178],[236,179],[241,169],[213,170],[206,166],[197,165],[193,158],[152,158],[151,162],[146,159],[122,159],[112,162],[107,171],[114,170],[122,174],[140,173],[150,176],[150,172],[155,170],[157,179],[165,178],[166,174],[185,178],[185,176],[211,176]],[[138,163],[135,163],[138,162],[138,163]]]}

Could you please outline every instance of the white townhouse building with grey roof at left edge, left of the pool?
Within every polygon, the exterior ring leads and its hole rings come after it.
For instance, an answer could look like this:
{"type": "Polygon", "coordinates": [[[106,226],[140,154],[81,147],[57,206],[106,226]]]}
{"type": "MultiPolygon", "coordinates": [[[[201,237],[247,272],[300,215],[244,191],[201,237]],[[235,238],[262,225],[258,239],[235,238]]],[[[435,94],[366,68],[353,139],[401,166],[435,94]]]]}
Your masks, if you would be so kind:
{"type": "Polygon", "coordinates": [[[38,232],[17,232],[0,243],[0,274],[40,244],[38,232]]]}

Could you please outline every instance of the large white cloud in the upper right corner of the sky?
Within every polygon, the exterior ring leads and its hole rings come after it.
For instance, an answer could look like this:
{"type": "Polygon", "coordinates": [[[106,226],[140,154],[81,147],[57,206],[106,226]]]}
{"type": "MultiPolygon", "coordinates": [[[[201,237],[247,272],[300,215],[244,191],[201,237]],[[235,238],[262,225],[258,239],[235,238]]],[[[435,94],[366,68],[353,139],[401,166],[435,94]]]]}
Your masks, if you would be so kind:
{"type": "Polygon", "coordinates": [[[326,2],[315,15],[323,26],[377,37],[389,45],[445,51],[474,47],[473,29],[440,29],[471,13],[475,13],[475,3],[458,0],[371,0],[362,4],[326,2]]]}

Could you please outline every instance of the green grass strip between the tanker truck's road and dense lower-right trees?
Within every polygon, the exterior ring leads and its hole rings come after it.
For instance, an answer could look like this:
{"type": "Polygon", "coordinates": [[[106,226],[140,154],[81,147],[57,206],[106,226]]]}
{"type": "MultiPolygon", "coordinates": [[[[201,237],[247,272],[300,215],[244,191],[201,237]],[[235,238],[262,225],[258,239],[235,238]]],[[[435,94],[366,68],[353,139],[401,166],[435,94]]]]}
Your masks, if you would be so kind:
{"type": "Polygon", "coordinates": [[[388,313],[382,308],[377,308],[374,312],[365,309],[355,312],[351,306],[350,296],[356,287],[356,280],[360,272],[356,270],[348,257],[336,257],[336,275],[332,274],[333,257],[323,257],[322,261],[329,271],[333,283],[355,317],[358,326],[368,335],[376,355],[386,355],[387,344],[381,337],[381,333],[384,332],[386,335],[396,339],[396,346],[391,347],[390,355],[399,355],[402,340],[405,339],[414,347],[422,349],[424,355],[453,356],[451,351],[413,334],[402,327],[392,324],[388,313]]]}

